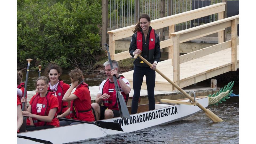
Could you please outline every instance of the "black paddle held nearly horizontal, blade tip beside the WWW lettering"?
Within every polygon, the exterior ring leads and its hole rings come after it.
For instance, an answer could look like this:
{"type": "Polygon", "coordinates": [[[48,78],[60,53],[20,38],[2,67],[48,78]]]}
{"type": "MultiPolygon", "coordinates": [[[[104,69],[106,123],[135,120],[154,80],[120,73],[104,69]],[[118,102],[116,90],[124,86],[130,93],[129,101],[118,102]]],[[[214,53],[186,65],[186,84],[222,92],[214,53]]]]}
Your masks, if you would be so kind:
{"type": "Polygon", "coordinates": [[[103,122],[103,121],[87,122],[87,121],[79,121],[79,120],[67,119],[67,118],[59,118],[59,120],[88,123],[88,124],[96,125],[98,127],[102,127],[104,129],[123,131],[123,129],[120,126],[120,124],[116,123],[116,122],[103,122]]]}

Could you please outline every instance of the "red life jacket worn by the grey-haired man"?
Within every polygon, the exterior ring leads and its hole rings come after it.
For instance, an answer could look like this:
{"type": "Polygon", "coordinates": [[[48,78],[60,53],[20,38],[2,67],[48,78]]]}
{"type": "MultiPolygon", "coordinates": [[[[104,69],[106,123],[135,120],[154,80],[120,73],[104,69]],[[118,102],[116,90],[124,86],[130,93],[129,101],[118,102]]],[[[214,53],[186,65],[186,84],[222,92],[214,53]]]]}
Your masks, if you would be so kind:
{"type": "MultiPolygon", "coordinates": [[[[121,79],[125,78],[123,76],[120,77],[121,79]]],[[[123,98],[125,99],[125,102],[127,103],[129,94],[126,95],[125,92],[120,87],[119,81],[117,81],[118,86],[121,90],[121,93],[123,95],[123,98]]],[[[116,96],[116,90],[115,90],[115,84],[113,82],[109,81],[109,78],[107,81],[104,83],[103,88],[102,88],[102,94],[108,94],[110,97],[106,100],[103,100],[103,105],[107,107],[108,109],[114,109],[114,110],[119,110],[118,105],[117,105],[117,96],[116,96]]]]}

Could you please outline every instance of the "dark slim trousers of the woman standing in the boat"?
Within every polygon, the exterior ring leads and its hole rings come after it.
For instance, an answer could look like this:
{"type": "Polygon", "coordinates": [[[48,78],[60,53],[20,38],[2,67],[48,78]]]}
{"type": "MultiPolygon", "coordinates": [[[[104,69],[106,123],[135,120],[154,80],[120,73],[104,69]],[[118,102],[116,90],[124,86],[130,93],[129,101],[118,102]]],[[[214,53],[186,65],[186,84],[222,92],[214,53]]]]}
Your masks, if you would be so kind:
{"type": "Polygon", "coordinates": [[[150,67],[139,67],[134,66],[133,71],[133,101],[131,103],[131,114],[136,114],[138,109],[138,101],[141,92],[141,85],[143,82],[143,77],[146,75],[147,84],[147,95],[149,99],[149,110],[155,109],[155,71],[150,69],[150,67]]]}

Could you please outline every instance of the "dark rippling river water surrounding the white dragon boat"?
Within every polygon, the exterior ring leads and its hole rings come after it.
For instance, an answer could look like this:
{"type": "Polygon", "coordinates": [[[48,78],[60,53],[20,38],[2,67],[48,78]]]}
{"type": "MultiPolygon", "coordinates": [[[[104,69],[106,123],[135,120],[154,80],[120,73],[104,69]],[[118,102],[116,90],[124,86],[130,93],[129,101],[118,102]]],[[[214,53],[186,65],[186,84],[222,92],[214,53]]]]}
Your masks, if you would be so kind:
{"type": "MultiPolygon", "coordinates": [[[[25,81],[26,73],[23,73],[23,77],[23,81],[25,81]]],[[[29,73],[28,90],[35,90],[37,77],[38,72],[29,73]]],[[[84,75],[84,77],[89,86],[97,86],[106,78],[102,75],[84,75]]],[[[62,74],[61,79],[70,83],[67,72],[62,74]]],[[[217,82],[217,87],[224,87],[225,85],[227,83],[217,82]]],[[[209,87],[210,83],[203,81],[194,86],[209,87]]],[[[233,89],[234,94],[239,94],[237,83],[233,89]]],[[[189,118],[167,125],[72,143],[239,143],[239,97],[231,97],[219,106],[208,108],[224,122],[213,123],[203,111],[200,111],[189,118]]]]}

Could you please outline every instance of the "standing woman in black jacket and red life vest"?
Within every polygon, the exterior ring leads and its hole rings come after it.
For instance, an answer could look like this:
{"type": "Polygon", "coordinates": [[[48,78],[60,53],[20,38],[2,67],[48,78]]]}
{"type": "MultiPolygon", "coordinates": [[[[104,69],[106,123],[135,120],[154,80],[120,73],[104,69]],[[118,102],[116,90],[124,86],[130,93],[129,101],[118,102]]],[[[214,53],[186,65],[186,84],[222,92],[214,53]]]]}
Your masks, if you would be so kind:
{"type": "Polygon", "coordinates": [[[150,17],[142,14],[139,22],[135,25],[134,34],[131,39],[129,52],[132,57],[139,54],[149,61],[152,66],[149,67],[139,57],[134,60],[133,72],[133,101],[131,103],[131,114],[137,113],[138,101],[141,91],[143,77],[146,75],[147,95],[149,99],[149,110],[155,109],[155,71],[157,63],[161,57],[159,35],[150,26],[150,17]]]}

